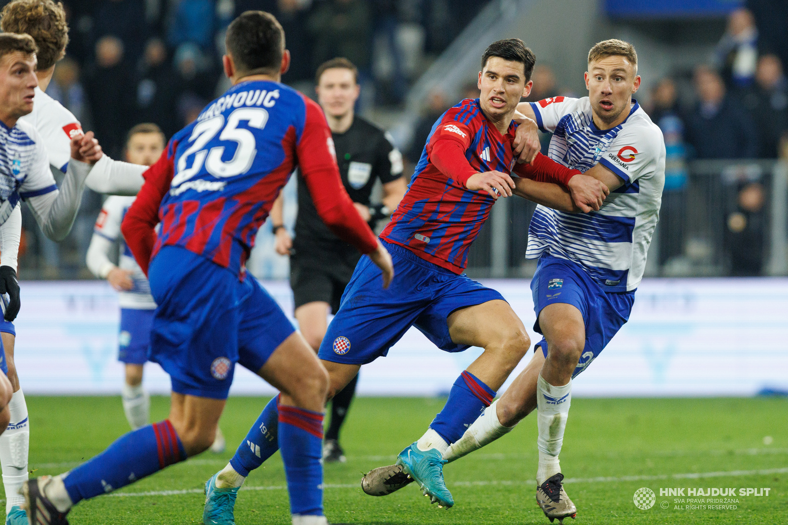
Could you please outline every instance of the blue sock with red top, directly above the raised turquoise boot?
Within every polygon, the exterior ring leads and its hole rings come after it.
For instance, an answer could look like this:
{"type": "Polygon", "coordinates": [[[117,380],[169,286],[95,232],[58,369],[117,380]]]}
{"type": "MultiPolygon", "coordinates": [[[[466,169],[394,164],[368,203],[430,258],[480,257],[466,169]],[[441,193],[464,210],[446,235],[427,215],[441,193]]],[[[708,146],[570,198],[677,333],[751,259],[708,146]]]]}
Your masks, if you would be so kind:
{"type": "Polygon", "coordinates": [[[459,441],[468,426],[489,407],[495,390],[485,385],[474,374],[465,370],[454,382],[448,400],[429,428],[435,430],[449,445],[459,441]]]}

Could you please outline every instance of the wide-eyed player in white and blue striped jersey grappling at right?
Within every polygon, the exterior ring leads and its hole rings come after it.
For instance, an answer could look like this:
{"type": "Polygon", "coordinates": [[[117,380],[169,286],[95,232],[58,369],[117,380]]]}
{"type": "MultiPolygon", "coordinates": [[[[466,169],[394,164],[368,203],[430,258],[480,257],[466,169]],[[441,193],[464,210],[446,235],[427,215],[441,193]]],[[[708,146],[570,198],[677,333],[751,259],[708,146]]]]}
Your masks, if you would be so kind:
{"type": "MultiPolygon", "coordinates": [[[[558,96],[518,106],[524,117],[516,155],[536,139],[537,127],[550,131],[548,156],[596,177],[610,194],[599,210],[587,214],[537,207],[527,256],[539,259],[531,281],[537,314],[533,330],[544,338],[526,370],[443,455],[453,461],[479,449],[537,408],[537,502],[551,520],[577,513],[563,490],[558,460],[571,380],[629,318],[659,216],[665,145],[660,128],[632,98],[640,81],[634,47],[605,40],[589,51],[588,97],[558,96]]],[[[396,467],[380,467],[365,476],[362,486],[366,493],[382,495],[408,482],[396,467]]]]}

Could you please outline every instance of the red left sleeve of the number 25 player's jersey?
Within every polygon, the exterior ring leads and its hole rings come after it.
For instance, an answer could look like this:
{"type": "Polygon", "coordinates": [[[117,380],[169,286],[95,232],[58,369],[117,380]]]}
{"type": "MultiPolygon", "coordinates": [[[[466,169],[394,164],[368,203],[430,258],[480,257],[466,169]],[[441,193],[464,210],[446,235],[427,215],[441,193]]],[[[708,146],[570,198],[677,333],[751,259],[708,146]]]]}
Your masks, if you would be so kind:
{"type": "Polygon", "coordinates": [[[151,263],[154,244],[156,244],[155,227],[158,224],[158,207],[173,182],[175,169],[173,159],[177,143],[170,141],[162,156],[145,172],[145,184],[140,188],[137,199],[128,208],[121,223],[121,233],[126,240],[128,249],[132,251],[137,264],[147,275],[151,263]]]}

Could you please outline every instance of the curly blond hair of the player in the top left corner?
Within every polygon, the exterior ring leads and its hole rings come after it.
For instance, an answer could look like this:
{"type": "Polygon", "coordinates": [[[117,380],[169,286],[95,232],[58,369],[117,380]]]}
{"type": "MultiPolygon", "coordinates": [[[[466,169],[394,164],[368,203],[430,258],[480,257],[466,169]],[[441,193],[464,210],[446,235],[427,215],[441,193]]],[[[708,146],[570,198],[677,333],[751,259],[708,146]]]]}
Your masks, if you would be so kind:
{"type": "Polygon", "coordinates": [[[6,33],[31,35],[38,46],[38,69],[49,69],[65,56],[69,25],[61,2],[14,0],[0,12],[0,28],[6,33]]]}

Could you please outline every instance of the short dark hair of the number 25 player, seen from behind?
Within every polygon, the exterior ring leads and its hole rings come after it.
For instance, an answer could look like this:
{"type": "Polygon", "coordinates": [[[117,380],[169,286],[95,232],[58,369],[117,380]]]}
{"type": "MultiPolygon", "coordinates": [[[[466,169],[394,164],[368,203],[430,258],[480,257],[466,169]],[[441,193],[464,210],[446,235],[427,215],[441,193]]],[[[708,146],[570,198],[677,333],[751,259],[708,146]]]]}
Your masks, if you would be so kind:
{"type": "Polygon", "coordinates": [[[225,46],[242,75],[275,75],[282,65],[284,30],[271,13],[246,11],[230,23],[225,46]]]}

